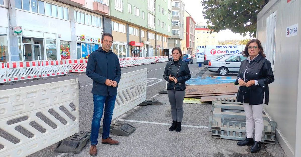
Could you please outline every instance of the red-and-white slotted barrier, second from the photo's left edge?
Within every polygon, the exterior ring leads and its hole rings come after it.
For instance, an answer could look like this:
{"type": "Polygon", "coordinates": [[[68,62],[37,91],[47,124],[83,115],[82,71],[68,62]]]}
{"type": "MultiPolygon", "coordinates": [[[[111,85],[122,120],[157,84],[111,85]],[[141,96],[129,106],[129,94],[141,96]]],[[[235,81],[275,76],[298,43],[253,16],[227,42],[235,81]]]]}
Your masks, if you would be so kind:
{"type": "Polygon", "coordinates": [[[6,75],[8,82],[39,78],[41,77],[40,62],[6,62],[6,75]]]}

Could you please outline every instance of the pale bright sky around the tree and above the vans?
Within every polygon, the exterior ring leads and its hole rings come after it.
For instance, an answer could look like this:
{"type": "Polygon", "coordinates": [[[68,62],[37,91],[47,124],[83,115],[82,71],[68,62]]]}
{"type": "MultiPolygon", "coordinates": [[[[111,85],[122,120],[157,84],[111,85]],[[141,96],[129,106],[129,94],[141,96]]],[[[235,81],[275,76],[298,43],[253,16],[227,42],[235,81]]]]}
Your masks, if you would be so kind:
{"type": "MultiPolygon", "coordinates": [[[[202,6],[203,0],[184,0],[185,4],[185,10],[191,15],[191,17],[194,19],[196,24],[203,23],[204,25],[207,25],[207,20],[203,17],[203,6],[202,6]]],[[[244,38],[250,38],[249,35],[242,36],[239,33],[233,33],[231,30],[223,30],[220,31],[217,35],[217,38],[219,41],[224,40],[232,40],[232,39],[244,39],[244,38]]]]}

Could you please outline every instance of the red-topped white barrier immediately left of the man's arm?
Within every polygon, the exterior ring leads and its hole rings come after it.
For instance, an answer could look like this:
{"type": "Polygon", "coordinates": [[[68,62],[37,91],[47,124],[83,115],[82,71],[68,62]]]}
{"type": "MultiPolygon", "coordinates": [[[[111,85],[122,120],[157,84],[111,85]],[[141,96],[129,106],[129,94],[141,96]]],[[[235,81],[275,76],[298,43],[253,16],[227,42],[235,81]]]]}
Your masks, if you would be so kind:
{"type": "Polygon", "coordinates": [[[67,60],[67,72],[85,72],[87,59],[67,60]]]}

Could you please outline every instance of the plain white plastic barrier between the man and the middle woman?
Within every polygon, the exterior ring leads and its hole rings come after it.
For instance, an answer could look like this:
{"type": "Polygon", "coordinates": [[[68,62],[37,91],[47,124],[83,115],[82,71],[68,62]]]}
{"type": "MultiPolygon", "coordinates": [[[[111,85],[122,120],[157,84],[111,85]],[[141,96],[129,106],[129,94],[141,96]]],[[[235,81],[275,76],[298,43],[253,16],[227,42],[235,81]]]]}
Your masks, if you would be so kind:
{"type": "Polygon", "coordinates": [[[121,74],[112,119],[146,100],[147,68],[121,74]]]}

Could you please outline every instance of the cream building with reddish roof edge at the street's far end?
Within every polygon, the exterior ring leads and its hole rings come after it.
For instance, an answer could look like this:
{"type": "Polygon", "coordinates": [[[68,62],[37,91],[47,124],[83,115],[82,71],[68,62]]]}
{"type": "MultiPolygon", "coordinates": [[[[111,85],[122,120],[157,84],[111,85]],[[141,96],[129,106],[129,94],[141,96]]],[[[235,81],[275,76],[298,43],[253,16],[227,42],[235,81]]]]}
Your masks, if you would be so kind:
{"type": "Polygon", "coordinates": [[[195,46],[218,45],[217,33],[210,31],[206,25],[195,26],[195,46]]]}

